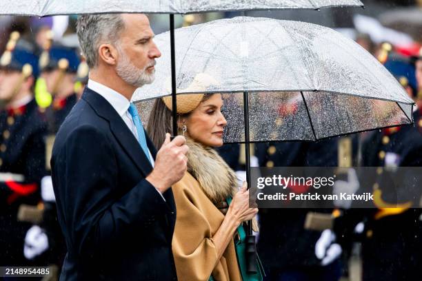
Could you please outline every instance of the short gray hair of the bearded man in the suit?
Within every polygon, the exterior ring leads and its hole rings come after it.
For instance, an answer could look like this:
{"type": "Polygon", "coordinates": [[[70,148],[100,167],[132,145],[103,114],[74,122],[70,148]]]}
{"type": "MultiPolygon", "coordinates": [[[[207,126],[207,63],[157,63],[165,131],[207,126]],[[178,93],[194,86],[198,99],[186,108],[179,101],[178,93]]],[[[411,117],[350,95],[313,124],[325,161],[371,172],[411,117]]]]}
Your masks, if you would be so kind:
{"type": "Polygon", "coordinates": [[[125,23],[121,14],[87,14],[77,21],[77,34],[86,63],[98,65],[98,49],[103,43],[118,45],[125,23]]]}

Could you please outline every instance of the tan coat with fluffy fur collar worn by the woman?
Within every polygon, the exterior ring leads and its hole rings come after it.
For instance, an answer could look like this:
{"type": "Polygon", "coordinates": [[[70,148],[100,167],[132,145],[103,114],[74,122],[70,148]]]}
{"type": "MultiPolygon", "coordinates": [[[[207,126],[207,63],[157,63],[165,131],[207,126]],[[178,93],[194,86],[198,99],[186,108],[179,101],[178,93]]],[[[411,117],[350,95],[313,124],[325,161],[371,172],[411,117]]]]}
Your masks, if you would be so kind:
{"type": "Polygon", "coordinates": [[[210,197],[218,201],[219,198],[230,195],[234,190],[230,186],[235,183],[235,178],[232,178],[234,176],[231,170],[229,174],[223,170],[220,171],[222,174],[210,174],[210,169],[207,169],[209,165],[212,165],[214,171],[216,165],[220,166],[217,169],[228,167],[225,163],[219,163],[223,160],[215,152],[203,150],[204,147],[196,144],[188,143],[188,145],[190,172],[186,172],[179,183],[172,187],[177,207],[172,240],[177,278],[179,281],[207,281],[212,273],[212,277],[217,281],[241,280],[233,241],[225,249],[223,256],[217,260],[217,248],[212,240],[224,220],[224,215],[215,207],[210,197]],[[214,163],[210,163],[210,160],[214,163]],[[201,167],[197,167],[196,163],[201,163],[201,167]],[[228,178],[222,180],[221,177],[228,178]]]}

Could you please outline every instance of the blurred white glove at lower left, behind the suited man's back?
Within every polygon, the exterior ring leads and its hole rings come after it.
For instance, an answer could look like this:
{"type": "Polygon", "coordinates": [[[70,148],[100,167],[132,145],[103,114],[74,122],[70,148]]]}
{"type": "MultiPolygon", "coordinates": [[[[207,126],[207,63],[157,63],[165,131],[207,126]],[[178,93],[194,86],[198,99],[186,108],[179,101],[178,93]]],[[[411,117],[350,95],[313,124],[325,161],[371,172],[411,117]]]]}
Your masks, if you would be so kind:
{"type": "Polygon", "coordinates": [[[23,246],[23,256],[28,260],[34,259],[48,249],[47,234],[38,225],[33,225],[25,236],[25,245],[23,246]]]}

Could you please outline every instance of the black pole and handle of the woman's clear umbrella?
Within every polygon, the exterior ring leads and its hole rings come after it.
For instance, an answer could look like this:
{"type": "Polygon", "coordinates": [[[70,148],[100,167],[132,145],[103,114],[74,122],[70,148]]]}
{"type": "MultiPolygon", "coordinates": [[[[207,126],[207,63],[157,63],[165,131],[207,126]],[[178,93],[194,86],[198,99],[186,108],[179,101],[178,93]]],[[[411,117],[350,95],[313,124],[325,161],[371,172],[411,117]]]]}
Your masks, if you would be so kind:
{"type": "MultiPolygon", "coordinates": [[[[243,118],[245,122],[245,164],[246,183],[250,189],[250,137],[249,137],[249,98],[248,92],[243,92],[243,118]]],[[[252,220],[248,222],[246,229],[246,264],[248,273],[257,273],[257,246],[255,236],[252,234],[252,220]]]]}

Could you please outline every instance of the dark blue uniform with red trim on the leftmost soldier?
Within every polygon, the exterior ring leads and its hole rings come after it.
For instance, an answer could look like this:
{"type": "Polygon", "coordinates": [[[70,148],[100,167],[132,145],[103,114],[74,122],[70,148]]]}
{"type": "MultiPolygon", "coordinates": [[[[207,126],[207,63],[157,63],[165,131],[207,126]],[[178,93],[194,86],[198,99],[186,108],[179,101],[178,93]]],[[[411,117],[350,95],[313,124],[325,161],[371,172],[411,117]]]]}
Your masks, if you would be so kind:
{"type": "Polygon", "coordinates": [[[28,264],[23,257],[23,242],[28,222],[17,221],[21,204],[37,205],[41,200],[39,184],[45,174],[47,125],[37,103],[0,112],[0,172],[19,174],[23,181],[0,183],[0,264],[28,264]],[[7,231],[6,231],[7,229],[7,231]],[[6,235],[6,232],[13,235],[6,235]]]}

